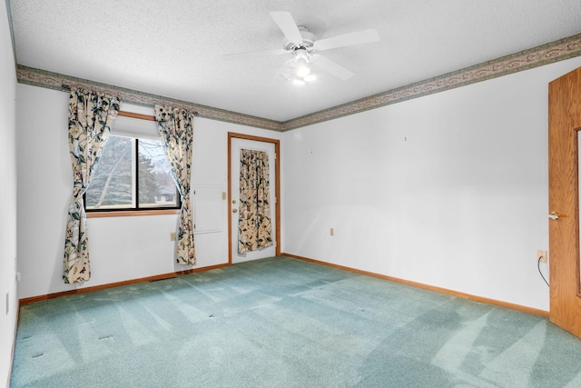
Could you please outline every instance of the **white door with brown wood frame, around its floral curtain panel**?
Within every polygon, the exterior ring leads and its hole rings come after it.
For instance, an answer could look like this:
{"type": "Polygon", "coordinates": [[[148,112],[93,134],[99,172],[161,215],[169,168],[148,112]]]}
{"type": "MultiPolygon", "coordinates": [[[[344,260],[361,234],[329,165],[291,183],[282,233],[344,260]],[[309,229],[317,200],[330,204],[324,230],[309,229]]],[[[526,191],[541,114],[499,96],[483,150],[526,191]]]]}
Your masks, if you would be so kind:
{"type": "Polygon", "coordinates": [[[228,133],[228,242],[229,263],[237,264],[281,254],[281,201],[280,201],[280,141],[248,134],[228,133]],[[272,244],[260,249],[240,252],[240,171],[241,153],[254,151],[268,155],[269,195],[272,244]]]}

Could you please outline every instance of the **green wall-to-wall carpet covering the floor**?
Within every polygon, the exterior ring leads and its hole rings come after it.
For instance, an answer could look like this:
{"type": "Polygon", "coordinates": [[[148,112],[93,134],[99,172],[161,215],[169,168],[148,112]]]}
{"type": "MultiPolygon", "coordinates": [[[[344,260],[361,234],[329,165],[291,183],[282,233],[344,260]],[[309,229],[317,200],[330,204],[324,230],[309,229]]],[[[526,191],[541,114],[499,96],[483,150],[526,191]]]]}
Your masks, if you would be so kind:
{"type": "Polygon", "coordinates": [[[25,304],[11,387],[581,387],[547,319],[271,258],[25,304]]]}

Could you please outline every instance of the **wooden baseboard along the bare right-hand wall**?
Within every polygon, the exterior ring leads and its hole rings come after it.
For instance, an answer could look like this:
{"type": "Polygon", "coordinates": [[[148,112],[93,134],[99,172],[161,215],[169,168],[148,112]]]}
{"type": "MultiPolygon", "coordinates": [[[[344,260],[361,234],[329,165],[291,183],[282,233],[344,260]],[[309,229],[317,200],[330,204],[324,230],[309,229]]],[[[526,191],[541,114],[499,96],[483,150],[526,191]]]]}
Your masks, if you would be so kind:
{"type": "Polygon", "coordinates": [[[498,307],[504,307],[504,308],[507,308],[510,310],[515,310],[515,311],[518,311],[521,313],[531,313],[533,315],[539,315],[539,316],[542,316],[545,318],[548,318],[548,316],[549,316],[549,312],[547,312],[545,310],[539,310],[539,309],[535,309],[532,307],[523,306],[521,304],[497,301],[496,299],[488,299],[488,298],[484,298],[481,296],[472,295],[470,293],[460,293],[458,291],[449,290],[447,288],[441,288],[441,287],[437,287],[434,285],[411,282],[409,280],[399,279],[399,278],[393,277],[393,276],[388,276],[388,275],[384,275],[384,274],[376,274],[376,273],[372,273],[369,271],[363,271],[363,270],[359,270],[357,268],[346,267],[346,266],[339,265],[339,264],[331,264],[331,263],[327,263],[327,262],[321,262],[320,260],[310,259],[308,257],[298,256],[296,254],[284,254],[283,253],[281,255],[286,256],[286,257],[291,257],[293,259],[303,260],[305,262],[310,262],[310,263],[314,263],[314,264],[321,264],[321,265],[329,266],[332,268],[337,268],[337,269],[340,269],[343,271],[349,271],[349,272],[354,273],[354,274],[364,274],[367,276],[372,276],[372,277],[377,277],[379,279],[387,280],[389,282],[411,285],[413,287],[422,288],[422,289],[428,290],[428,291],[434,291],[436,293],[445,293],[447,295],[457,296],[458,298],[468,299],[469,301],[472,301],[472,302],[491,304],[491,305],[495,305],[498,307]]]}

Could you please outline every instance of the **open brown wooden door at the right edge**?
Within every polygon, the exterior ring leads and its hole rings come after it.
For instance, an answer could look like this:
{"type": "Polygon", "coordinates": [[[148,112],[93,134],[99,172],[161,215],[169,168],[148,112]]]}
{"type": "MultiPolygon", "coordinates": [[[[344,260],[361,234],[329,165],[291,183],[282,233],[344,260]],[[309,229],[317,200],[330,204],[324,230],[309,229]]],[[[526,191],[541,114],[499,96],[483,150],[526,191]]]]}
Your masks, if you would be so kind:
{"type": "Polygon", "coordinates": [[[550,320],[581,337],[579,146],[581,67],[549,84],[550,320]]]}

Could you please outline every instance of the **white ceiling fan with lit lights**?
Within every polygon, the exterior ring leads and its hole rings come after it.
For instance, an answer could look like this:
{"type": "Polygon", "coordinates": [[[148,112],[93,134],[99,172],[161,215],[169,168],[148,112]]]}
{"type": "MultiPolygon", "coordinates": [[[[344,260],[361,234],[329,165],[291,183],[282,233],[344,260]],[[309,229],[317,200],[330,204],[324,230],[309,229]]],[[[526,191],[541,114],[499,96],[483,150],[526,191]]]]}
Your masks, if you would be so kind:
{"type": "Polygon", "coordinates": [[[282,65],[279,73],[296,85],[304,85],[305,82],[311,82],[315,79],[315,76],[310,72],[310,65],[319,66],[341,80],[347,80],[354,75],[353,72],[342,65],[331,61],[326,56],[317,54],[318,51],[349,45],[361,45],[379,40],[379,34],[374,29],[317,39],[307,27],[297,25],[292,15],[288,12],[273,11],[271,12],[271,17],[281,28],[282,34],[286,38],[281,48],[228,54],[223,55],[223,57],[225,59],[240,59],[263,55],[291,54],[292,58],[282,65]]]}

